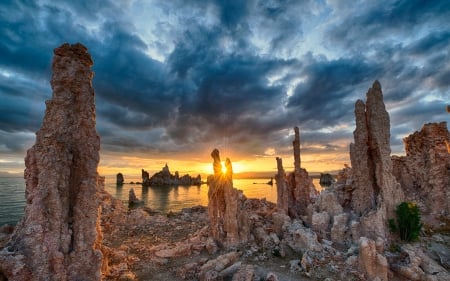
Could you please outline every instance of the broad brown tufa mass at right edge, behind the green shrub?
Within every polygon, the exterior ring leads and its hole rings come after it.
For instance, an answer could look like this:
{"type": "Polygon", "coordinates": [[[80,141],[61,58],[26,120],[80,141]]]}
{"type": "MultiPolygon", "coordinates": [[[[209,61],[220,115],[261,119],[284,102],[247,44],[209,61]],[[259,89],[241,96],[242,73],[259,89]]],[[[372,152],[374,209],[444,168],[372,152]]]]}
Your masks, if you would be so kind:
{"type": "Polygon", "coordinates": [[[425,124],[403,139],[406,156],[393,156],[394,174],[409,201],[422,212],[450,214],[450,133],[447,123],[425,124]]]}

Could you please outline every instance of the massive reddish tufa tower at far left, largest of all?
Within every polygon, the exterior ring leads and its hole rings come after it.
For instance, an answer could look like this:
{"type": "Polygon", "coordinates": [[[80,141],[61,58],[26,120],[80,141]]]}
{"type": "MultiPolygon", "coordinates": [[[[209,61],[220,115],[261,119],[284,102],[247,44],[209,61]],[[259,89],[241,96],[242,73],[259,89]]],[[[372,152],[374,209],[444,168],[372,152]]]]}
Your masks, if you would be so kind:
{"type": "Polygon", "coordinates": [[[54,53],[53,96],[25,158],[25,216],[0,254],[0,272],[9,280],[100,280],[93,63],[81,44],[54,53]]]}

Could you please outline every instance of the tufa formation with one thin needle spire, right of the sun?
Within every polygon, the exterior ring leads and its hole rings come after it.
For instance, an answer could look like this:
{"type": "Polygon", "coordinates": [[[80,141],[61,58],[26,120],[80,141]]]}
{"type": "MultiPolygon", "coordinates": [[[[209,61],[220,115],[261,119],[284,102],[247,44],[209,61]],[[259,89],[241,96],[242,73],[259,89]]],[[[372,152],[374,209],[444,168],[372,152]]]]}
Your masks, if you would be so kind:
{"type": "Polygon", "coordinates": [[[318,196],[318,191],[314,187],[312,178],[309,177],[308,172],[300,167],[300,134],[298,127],[294,128],[295,138],[292,142],[294,150],[294,171],[285,175],[283,165],[280,158],[277,158],[278,173],[275,176],[277,183],[277,199],[280,211],[286,209],[287,198],[287,212],[290,217],[297,218],[306,215],[307,207],[314,202],[318,196]],[[283,178],[283,175],[284,178],[283,178]]]}

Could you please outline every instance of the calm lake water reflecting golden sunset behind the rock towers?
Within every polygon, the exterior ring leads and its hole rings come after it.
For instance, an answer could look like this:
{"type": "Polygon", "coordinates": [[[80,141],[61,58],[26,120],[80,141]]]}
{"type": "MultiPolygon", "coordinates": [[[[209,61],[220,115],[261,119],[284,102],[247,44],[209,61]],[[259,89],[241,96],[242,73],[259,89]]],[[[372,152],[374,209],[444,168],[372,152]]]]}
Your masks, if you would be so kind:
{"type": "MultiPolygon", "coordinates": [[[[139,178],[125,178],[126,182],[139,181],[139,178]]],[[[268,179],[234,179],[234,187],[241,189],[248,198],[266,198],[276,203],[277,187],[268,185],[268,179]]],[[[314,179],[316,188],[318,179],[314,179]]],[[[208,205],[208,185],[201,186],[171,186],[142,187],[140,184],[125,183],[116,186],[114,176],[106,177],[105,189],[112,196],[128,203],[129,190],[133,188],[138,198],[145,206],[161,212],[179,211],[183,208],[208,205]]],[[[25,180],[23,178],[0,178],[0,225],[16,224],[24,214],[25,180]]]]}

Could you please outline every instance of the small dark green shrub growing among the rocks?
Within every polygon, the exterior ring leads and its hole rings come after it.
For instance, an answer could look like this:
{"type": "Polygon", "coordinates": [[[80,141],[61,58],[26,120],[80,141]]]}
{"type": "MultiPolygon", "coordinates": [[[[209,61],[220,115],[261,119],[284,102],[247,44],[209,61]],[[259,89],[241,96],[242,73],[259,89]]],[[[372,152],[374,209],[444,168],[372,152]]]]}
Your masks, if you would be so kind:
{"type": "Polygon", "coordinates": [[[419,207],[415,203],[402,202],[395,209],[397,224],[389,220],[389,229],[399,234],[404,241],[415,241],[419,238],[422,224],[420,223],[419,207]]]}

